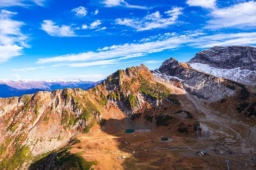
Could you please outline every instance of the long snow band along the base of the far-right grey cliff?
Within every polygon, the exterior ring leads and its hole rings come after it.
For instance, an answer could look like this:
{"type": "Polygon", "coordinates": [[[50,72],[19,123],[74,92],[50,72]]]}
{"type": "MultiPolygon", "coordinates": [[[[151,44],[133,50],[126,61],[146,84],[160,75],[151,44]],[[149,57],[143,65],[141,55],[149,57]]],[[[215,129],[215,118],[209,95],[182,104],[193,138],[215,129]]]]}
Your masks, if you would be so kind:
{"type": "Polygon", "coordinates": [[[195,70],[208,73],[216,77],[230,79],[242,84],[256,85],[256,71],[241,70],[240,67],[233,69],[214,68],[208,64],[201,63],[191,63],[189,66],[195,70]]]}

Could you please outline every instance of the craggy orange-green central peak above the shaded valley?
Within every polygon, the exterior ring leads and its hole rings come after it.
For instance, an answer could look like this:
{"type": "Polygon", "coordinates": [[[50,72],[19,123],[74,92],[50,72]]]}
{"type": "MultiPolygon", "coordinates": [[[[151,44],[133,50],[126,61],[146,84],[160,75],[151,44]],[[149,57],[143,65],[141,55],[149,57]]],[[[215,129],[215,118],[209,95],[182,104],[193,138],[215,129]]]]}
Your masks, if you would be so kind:
{"type": "Polygon", "coordinates": [[[155,82],[154,75],[144,64],[113,73],[92,91],[100,96],[97,98],[99,102],[104,99],[104,94],[131,122],[135,115],[144,112],[146,105],[156,109],[166,104],[177,106],[179,103],[163,84],[155,82]]]}

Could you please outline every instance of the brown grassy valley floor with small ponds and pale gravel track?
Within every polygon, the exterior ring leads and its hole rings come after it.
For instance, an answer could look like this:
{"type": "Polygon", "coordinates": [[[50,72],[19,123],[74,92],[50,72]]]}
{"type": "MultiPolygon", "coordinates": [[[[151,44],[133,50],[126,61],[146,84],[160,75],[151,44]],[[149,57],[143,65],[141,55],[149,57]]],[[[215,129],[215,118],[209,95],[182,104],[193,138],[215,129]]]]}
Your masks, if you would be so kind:
{"type": "Polygon", "coordinates": [[[174,126],[148,126],[150,132],[127,134],[125,129],[138,130],[139,124],[112,119],[79,135],[81,142],[71,152],[83,153],[88,161],[99,161],[95,170],[226,170],[226,160],[231,170],[255,169],[254,128],[199,104],[199,99],[180,88],[171,88],[180,94],[184,110],[190,110],[200,121],[202,132],[186,134],[174,126]],[[169,140],[162,141],[163,137],[169,140]],[[202,150],[206,155],[197,156],[196,152],[202,150]],[[126,158],[118,159],[121,156],[126,158]]]}

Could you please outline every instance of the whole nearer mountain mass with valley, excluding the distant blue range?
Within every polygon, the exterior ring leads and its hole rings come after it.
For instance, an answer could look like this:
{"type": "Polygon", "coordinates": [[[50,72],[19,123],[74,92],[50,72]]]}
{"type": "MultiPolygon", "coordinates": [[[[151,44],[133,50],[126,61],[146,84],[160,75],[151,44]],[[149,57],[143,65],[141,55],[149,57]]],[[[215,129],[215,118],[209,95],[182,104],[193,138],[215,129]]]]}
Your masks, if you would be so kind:
{"type": "Polygon", "coordinates": [[[256,47],[216,46],[85,91],[0,98],[0,169],[253,170],[255,66],[256,47]]]}

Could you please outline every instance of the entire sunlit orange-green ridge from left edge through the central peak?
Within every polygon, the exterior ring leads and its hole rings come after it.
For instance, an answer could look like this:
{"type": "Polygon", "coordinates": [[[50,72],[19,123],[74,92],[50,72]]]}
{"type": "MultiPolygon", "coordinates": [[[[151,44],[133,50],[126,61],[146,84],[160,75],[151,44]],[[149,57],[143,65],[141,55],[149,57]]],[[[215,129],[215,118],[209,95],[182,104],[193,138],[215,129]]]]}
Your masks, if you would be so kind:
{"type": "MultiPolygon", "coordinates": [[[[145,110],[146,114],[167,107],[178,110],[177,97],[153,78],[150,70],[141,65],[119,70],[88,91],[66,88],[0,98],[0,156],[3,160],[0,168],[12,170],[30,163],[64,146],[77,133],[103,124],[106,119],[124,119],[126,115],[128,121],[133,122],[145,110]],[[13,153],[21,151],[29,156],[18,159],[21,164],[17,164],[16,158],[21,155],[13,153]]],[[[140,126],[146,125],[143,121],[140,126]]]]}

